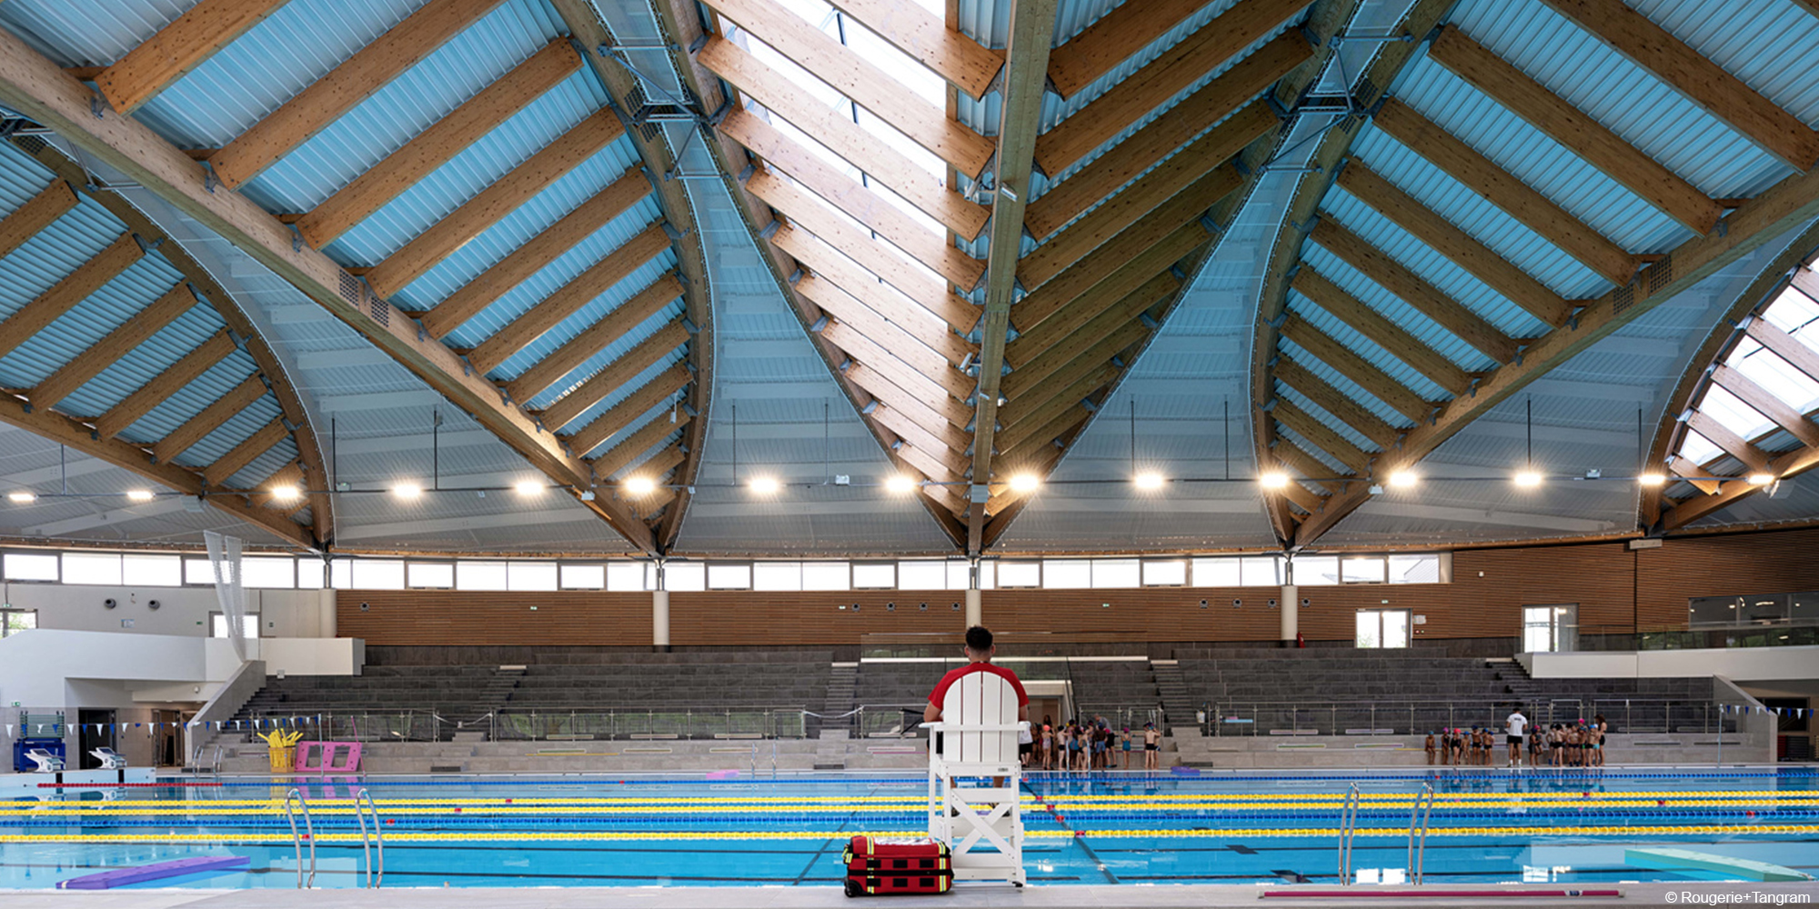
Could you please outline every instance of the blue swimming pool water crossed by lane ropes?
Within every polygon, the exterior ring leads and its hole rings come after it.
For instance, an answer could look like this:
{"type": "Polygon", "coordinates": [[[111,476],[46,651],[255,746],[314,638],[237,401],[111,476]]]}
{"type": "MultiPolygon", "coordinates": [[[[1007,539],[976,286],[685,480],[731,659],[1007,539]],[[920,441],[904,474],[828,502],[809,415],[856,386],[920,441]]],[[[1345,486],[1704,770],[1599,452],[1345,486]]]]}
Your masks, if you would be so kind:
{"type": "MultiPolygon", "coordinates": [[[[835,885],[855,833],[926,829],[920,776],[222,778],[45,789],[0,802],[0,889],[196,856],[249,867],[140,887],[295,887],[282,802],[315,824],[315,887],[366,884],[353,796],[384,820],[386,887],[835,885]]],[[[1692,849],[1819,869],[1819,776],[1804,771],[1441,771],[1175,778],[1026,778],[1033,885],[1337,882],[1357,785],[1353,880],[1410,874],[1413,796],[1432,785],[1430,884],[1741,880],[1632,865],[1626,849],[1692,849]]],[[[309,853],[304,849],[304,874],[309,853]]]]}

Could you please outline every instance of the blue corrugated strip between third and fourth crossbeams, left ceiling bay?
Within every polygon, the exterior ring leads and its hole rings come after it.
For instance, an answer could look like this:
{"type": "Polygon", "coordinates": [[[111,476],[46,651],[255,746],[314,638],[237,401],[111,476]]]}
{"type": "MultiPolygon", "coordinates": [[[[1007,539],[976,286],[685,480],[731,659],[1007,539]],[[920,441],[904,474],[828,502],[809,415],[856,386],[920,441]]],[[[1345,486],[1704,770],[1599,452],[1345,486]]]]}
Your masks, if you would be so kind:
{"type": "MultiPolygon", "coordinates": [[[[397,253],[417,235],[598,111],[600,105],[577,91],[577,85],[580,85],[578,76],[571,76],[531,102],[480,142],[462,149],[453,160],[326,245],[324,253],[347,264],[377,264],[397,253]]],[[[606,155],[613,155],[611,149],[617,147],[618,156],[624,156],[622,145],[626,145],[624,138],[611,144],[606,155]]]]}

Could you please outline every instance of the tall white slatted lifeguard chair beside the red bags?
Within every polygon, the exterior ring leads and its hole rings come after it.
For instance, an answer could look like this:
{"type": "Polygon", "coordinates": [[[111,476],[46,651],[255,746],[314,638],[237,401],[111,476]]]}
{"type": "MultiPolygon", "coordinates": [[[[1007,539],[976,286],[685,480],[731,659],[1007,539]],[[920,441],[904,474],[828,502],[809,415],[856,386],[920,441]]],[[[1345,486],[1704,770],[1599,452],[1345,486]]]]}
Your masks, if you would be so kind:
{"type": "Polygon", "coordinates": [[[1017,720],[1017,689],[999,674],[970,673],[948,687],[940,722],[922,725],[930,729],[928,834],[948,844],[953,880],[1022,887],[1017,731],[1028,724],[1017,720]]]}

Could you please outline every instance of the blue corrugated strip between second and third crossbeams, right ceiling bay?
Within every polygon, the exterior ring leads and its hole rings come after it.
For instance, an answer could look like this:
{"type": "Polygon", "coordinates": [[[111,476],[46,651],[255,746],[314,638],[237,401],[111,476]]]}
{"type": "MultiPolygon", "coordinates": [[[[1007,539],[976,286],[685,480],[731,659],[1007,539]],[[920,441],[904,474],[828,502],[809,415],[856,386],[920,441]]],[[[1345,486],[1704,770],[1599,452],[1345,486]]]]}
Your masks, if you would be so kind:
{"type": "Polygon", "coordinates": [[[1426,56],[1410,65],[1399,93],[1422,116],[1632,253],[1663,253],[1693,236],[1692,229],[1426,56]]]}

